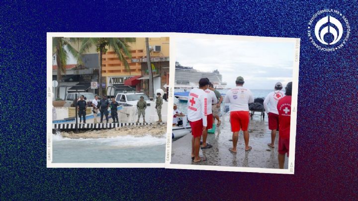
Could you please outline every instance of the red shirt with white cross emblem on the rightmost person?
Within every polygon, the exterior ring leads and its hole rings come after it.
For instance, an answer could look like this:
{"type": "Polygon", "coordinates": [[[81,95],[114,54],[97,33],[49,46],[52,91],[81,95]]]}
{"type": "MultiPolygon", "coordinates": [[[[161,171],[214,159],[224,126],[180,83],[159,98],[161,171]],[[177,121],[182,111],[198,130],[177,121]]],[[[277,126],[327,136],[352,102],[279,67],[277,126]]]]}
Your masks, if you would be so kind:
{"type": "Polygon", "coordinates": [[[289,139],[291,125],[291,96],[285,96],[277,102],[279,137],[289,139]]]}

